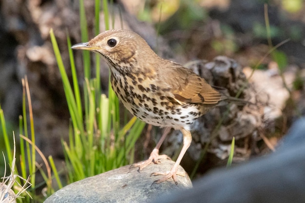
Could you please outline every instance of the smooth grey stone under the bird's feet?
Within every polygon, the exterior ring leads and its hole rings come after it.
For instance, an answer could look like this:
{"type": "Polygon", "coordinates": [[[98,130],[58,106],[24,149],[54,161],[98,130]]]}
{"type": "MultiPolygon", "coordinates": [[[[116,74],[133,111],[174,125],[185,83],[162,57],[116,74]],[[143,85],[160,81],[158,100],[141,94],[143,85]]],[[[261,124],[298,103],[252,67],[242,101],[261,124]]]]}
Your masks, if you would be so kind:
{"type": "MultiPolygon", "coordinates": [[[[153,184],[159,176],[150,177],[152,172],[167,171],[174,164],[161,160],[161,164],[151,164],[140,172],[130,165],[89,177],[55,192],[44,203],[143,203],[151,202],[158,196],[177,189],[191,188],[188,175],[178,176],[176,186],[172,179],[161,184],[153,184]]],[[[180,166],[178,171],[183,172],[180,166]]]]}

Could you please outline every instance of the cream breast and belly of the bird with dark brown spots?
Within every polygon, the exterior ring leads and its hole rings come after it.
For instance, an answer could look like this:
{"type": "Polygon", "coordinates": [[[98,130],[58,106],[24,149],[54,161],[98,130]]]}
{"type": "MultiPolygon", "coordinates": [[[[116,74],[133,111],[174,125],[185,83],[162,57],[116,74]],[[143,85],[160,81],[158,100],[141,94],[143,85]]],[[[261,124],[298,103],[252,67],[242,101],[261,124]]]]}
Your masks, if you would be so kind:
{"type": "Polygon", "coordinates": [[[111,84],[124,106],[146,123],[188,129],[202,115],[202,105],[178,103],[154,79],[112,73],[111,84]]]}

